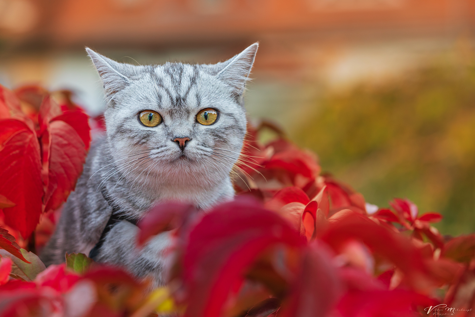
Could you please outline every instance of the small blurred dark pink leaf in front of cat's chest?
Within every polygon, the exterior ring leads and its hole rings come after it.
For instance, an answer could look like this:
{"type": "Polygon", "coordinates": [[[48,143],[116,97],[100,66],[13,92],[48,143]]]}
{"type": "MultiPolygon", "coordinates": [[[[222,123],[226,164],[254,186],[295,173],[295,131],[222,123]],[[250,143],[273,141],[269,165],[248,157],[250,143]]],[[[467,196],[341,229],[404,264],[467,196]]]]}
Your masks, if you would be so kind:
{"type": "Polygon", "coordinates": [[[139,245],[162,231],[178,228],[183,217],[195,211],[193,206],[179,202],[161,202],[157,204],[137,224],[140,228],[139,245]]]}

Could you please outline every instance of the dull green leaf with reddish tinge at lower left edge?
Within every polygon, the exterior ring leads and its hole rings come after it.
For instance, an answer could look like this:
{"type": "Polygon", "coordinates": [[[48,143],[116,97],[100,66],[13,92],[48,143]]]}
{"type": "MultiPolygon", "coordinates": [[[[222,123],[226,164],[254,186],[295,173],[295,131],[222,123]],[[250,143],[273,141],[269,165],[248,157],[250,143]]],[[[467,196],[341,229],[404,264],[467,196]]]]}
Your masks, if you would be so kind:
{"type": "Polygon", "coordinates": [[[13,256],[7,250],[0,249],[0,255],[2,257],[10,258],[13,261],[13,265],[11,266],[12,275],[16,275],[25,281],[32,281],[36,278],[38,273],[46,269],[46,266],[35,253],[28,252],[25,249],[20,249],[20,251],[23,257],[31,263],[24,262],[23,260],[13,256]]]}

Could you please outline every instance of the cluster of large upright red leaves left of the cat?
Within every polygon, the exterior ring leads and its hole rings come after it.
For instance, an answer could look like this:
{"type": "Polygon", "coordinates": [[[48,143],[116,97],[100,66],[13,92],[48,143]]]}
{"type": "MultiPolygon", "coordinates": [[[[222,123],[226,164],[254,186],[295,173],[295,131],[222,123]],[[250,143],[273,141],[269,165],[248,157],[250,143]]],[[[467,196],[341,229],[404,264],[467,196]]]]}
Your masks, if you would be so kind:
{"type": "Polygon", "coordinates": [[[74,190],[90,143],[87,115],[58,106],[49,92],[0,86],[0,194],[5,225],[27,239],[42,212],[57,209],[74,190]]]}

